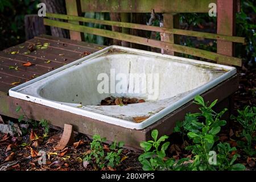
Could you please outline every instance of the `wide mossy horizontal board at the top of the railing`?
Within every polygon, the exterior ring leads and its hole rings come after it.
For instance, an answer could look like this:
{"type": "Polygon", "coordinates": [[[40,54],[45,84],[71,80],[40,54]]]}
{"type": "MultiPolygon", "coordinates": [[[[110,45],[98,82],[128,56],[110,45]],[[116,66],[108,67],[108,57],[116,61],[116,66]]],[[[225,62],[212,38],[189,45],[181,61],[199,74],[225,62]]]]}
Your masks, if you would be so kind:
{"type": "Polygon", "coordinates": [[[216,0],[81,0],[82,12],[208,13],[216,0]]]}

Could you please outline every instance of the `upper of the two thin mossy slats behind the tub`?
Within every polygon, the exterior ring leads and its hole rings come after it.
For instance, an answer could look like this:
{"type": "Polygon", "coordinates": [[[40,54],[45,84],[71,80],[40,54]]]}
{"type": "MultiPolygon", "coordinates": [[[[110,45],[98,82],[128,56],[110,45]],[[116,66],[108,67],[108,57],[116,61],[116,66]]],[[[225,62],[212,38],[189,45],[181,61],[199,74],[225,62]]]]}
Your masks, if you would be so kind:
{"type": "MultiPolygon", "coordinates": [[[[105,24],[105,25],[109,25],[109,26],[117,26],[117,27],[125,27],[125,28],[134,28],[134,29],[139,29],[139,30],[163,32],[165,34],[195,36],[195,37],[200,37],[200,38],[205,38],[205,39],[225,40],[225,41],[236,42],[236,43],[245,43],[245,38],[241,38],[241,37],[237,37],[237,36],[219,35],[219,34],[198,32],[198,31],[191,31],[191,30],[181,30],[181,29],[170,28],[170,27],[167,28],[167,27],[147,26],[146,24],[115,22],[115,21],[109,21],[109,20],[100,20],[100,19],[85,18],[85,17],[80,17],[80,16],[62,15],[62,14],[47,13],[46,16],[51,17],[51,18],[74,20],[74,21],[79,21],[79,22],[98,23],[98,24],[105,24]]],[[[166,18],[166,20],[168,20],[168,19],[166,18]]]]}

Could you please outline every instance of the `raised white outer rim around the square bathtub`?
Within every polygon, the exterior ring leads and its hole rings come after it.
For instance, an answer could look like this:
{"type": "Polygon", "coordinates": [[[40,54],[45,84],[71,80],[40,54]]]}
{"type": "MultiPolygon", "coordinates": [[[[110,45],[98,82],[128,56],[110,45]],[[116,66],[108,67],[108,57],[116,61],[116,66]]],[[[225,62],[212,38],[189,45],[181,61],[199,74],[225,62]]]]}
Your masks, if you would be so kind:
{"type": "Polygon", "coordinates": [[[179,107],[183,106],[187,102],[193,100],[193,98],[196,95],[203,94],[204,92],[207,92],[209,89],[212,89],[214,86],[220,84],[221,82],[227,80],[228,78],[230,78],[230,77],[232,77],[234,75],[236,75],[236,68],[235,67],[230,67],[230,66],[227,66],[227,65],[208,63],[208,62],[205,62],[205,61],[187,59],[187,58],[178,57],[178,56],[162,55],[161,53],[155,53],[155,52],[150,52],[150,51],[142,51],[142,50],[134,49],[134,48],[127,48],[127,47],[121,47],[121,46],[109,46],[109,47],[106,47],[104,49],[101,49],[100,51],[94,52],[94,53],[92,53],[92,54],[90,54],[90,55],[88,55],[86,57],[82,57],[79,60],[73,61],[72,63],[64,65],[63,67],[60,67],[60,68],[57,68],[57,69],[55,69],[55,70],[53,70],[51,72],[48,72],[48,73],[46,73],[46,74],[44,74],[42,76],[34,78],[33,80],[30,80],[28,82],[25,82],[23,84],[15,86],[14,88],[11,88],[9,90],[9,96],[10,97],[19,98],[21,100],[35,102],[37,104],[45,105],[45,106],[48,106],[48,107],[53,107],[55,109],[60,109],[60,110],[68,111],[70,113],[82,115],[84,117],[89,117],[89,118],[92,118],[92,119],[97,119],[97,120],[100,120],[102,122],[111,123],[113,125],[118,125],[118,126],[126,127],[128,129],[142,130],[145,127],[150,126],[150,125],[152,125],[152,123],[155,123],[159,119],[163,118],[167,114],[172,113],[172,111],[178,109],[179,107]],[[82,110],[82,109],[80,109],[78,107],[64,105],[64,104],[60,104],[59,102],[56,102],[56,101],[47,100],[45,98],[38,98],[38,97],[30,96],[29,94],[24,94],[24,93],[18,92],[19,89],[22,89],[24,86],[28,86],[28,85],[36,82],[36,81],[42,80],[43,78],[46,78],[46,77],[51,76],[51,75],[54,75],[57,72],[63,71],[64,69],[72,67],[73,65],[76,65],[78,63],[81,63],[82,61],[91,59],[94,56],[100,56],[100,55],[108,52],[109,49],[120,49],[121,51],[130,51],[130,52],[139,53],[139,54],[143,54],[144,53],[146,55],[164,57],[164,58],[167,58],[167,59],[168,58],[169,59],[174,59],[175,61],[182,61],[183,63],[187,62],[187,63],[192,63],[192,64],[209,65],[209,66],[212,66],[212,67],[215,67],[215,68],[225,69],[227,72],[224,73],[223,75],[215,78],[214,80],[209,81],[209,82],[207,82],[206,84],[204,84],[202,86],[199,86],[193,92],[191,92],[191,93],[187,94],[187,96],[181,98],[181,100],[175,102],[174,104],[172,104],[170,106],[165,107],[163,110],[160,110],[158,113],[152,115],[150,118],[144,120],[141,123],[135,123],[135,122],[126,121],[126,120],[123,120],[123,119],[118,119],[118,118],[110,117],[108,115],[94,113],[92,111],[82,110]]]}

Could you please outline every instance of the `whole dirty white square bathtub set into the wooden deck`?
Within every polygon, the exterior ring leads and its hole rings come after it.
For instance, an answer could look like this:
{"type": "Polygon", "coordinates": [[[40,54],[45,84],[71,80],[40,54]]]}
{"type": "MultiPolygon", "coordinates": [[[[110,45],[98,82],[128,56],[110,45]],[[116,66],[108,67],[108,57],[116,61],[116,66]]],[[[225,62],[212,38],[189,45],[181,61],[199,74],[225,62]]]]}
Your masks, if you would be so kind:
{"type": "Polygon", "coordinates": [[[235,74],[234,67],[110,46],[16,86],[9,95],[141,130],[235,74]],[[98,105],[109,96],[146,102],[98,105]]]}

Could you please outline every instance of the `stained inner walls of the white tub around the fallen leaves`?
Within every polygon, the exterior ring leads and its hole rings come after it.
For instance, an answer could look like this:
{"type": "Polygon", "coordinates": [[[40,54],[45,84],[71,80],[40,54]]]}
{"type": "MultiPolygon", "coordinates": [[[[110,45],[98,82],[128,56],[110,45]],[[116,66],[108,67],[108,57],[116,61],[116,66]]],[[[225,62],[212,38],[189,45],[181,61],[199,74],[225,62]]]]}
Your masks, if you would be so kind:
{"type": "MultiPolygon", "coordinates": [[[[89,61],[88,63],[85,61],[74,65],[73,69],[65,70],[63,74],[57,75],[42,85],[39,89],[39,95],[47,100],[82,104],[84,106],[96,106],[100,104],[101,100],[109,96],[137,97],[146,101],[159,101],[198,88],[224,72],[221,69],[209,69],[156,56],[145,57],[118,52],[96,57],[91,64],[89,61]],[[108,75],[108,77],[98,78],[102,73],[108,75]],[[127,78],[124,83],[126,91],[124,93],[111,93],[111,84],[117,84],[120,81],[118,77],[115,77],[119,73],[127,78]],[[146,92],[139,90],[139,93],[129,92],[129,89],[133,90],[131,87],[135,87],[134,82],[131,81],[133,78],[130,77],[133,74],[134,76],[141,74],[139,75],[141,76],[139,77],[140,89],[152,88],[151,95],[154,94],[154,91],[158,94],[155,93],[155,97],[148,97],[148,90],[146,92]],[[159,77],[154,77],[154,74],[158,74],[159,77]],[[147,79],[144,86],[141,79],[143,77],[147,79]],[[153,79],[152,84],[149,81],[151,78],[153,79]],[[154,78],[155,80],[159,78],[159,84],[154,82],[154,78]],[[108,82],[108,93],[99,93],[98,85],[104,81],[108,82]]],[[[104,86],[101,88],[104,89],[104,86]]]]}

